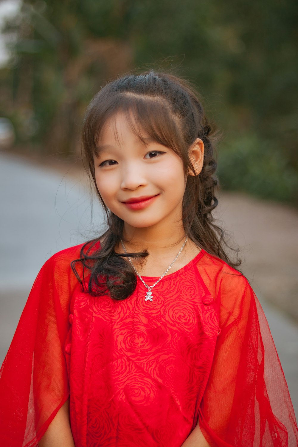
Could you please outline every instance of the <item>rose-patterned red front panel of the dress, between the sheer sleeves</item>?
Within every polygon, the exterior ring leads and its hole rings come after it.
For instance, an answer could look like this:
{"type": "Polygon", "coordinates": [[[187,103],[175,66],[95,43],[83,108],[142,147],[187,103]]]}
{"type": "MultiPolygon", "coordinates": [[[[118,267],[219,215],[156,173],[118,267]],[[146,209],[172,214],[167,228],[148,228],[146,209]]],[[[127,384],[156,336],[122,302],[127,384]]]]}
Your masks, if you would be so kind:
{"type": "Polygon", "coordinates": [[[152,302],[140,281],[123,301],[76,297],[67,365],[78,445],[178,447],[187,438],[218,335],[214,306],[203,303],[199,257],[158,283],[152,302]]]}

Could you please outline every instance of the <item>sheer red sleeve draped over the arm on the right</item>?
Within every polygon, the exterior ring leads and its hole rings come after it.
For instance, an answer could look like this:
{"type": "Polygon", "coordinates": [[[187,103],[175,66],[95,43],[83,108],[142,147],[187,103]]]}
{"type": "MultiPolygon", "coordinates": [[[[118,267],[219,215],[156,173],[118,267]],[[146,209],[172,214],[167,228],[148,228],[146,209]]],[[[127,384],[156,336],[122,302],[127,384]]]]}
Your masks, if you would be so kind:
{"type": "Polygon", "coordinates": [[[218,270],[213,280],[207,275],[203,280],[214,287],[220,316],[214,361],[199,409],[206,440],[212,447],[297,446],[285,376],[247,279],[235,270],[218,270]]]}

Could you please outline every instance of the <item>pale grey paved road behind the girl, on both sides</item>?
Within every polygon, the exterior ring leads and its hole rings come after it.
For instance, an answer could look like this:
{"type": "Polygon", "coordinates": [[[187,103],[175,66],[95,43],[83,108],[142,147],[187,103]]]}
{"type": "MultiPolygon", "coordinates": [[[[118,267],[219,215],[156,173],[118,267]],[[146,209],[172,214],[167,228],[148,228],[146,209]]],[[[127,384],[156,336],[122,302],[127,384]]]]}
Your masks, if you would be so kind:
{"type": "MultiPolygon", "coordinates": [[[[89,193],[73,178],[0,154],[0,363],[42,264],[53,253],[91,238],[102,222],[100,207],[93,203],[91,213],[91,203],[89,193]]],[[[245,203],[236,206],[239,216],[245,203]]],[[[223,195],[224,218],[230,225],[235,212],[231,207],[231,198],[223,195]]],[[[298,327],[263,300],[262,305],[297,414],[298,327]]]]}

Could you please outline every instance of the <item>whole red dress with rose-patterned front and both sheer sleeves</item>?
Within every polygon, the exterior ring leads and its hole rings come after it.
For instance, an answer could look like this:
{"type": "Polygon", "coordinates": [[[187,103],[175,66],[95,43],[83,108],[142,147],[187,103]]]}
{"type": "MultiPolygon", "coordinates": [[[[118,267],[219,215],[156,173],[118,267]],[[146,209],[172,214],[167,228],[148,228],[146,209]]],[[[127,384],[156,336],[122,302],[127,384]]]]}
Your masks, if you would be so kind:
{"type": "MultiPolygon", "coordinates": [[[[1,368],[0,446],[35,447],[64,402],[76,447],[298,445],[288,388],[248,281],[201,250],[145,301],[82,291],[70,262],[42,267],[1,368]]],[[[153,284],[158,278],[147,278],[153,284]]]]}

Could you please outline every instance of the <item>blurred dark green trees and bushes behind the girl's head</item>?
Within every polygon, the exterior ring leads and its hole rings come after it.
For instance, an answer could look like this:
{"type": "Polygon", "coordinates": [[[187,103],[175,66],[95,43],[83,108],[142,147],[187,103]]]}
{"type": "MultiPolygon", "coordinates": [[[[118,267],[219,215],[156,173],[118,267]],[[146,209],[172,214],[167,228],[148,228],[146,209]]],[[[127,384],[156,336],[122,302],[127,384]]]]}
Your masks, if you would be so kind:
{"type": "Polygon", "coordinates": [[[19,141],[72,154],[100,86],[157,62],[193,80],[227,135],[226,187],[294,201],[297,22],[294,0],[24,0],[7,24],[16,38],[1,113],[13,117],[19,141]]]}

